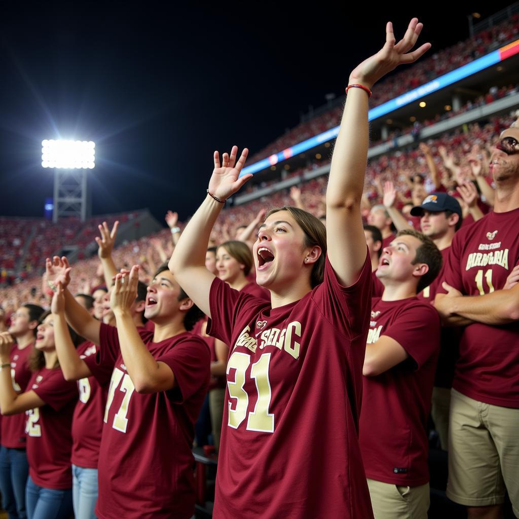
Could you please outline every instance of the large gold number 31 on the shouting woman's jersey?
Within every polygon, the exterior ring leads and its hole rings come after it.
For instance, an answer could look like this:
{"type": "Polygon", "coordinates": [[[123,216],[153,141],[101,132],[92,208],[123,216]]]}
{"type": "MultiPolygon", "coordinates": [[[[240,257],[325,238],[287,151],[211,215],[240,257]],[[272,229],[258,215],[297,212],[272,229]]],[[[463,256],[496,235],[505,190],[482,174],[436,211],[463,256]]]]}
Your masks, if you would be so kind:
{"type": "MultiPolygon", "coordinates": [[[[251,377],[254,378],[257,390],[257,400],[254,411],[249,413],[247,420],[247,429],[249,431],[258,432],[274,432],[274,414],[269,413],[270,399],[272,391],[270,388],[270,380],[268,377],[268,368],[270,365],[271,353],[264,353],[260,360],[255,362],[251,367],[251,377]]],[[[236,370],[235,381],[227,380],[229,388],[229,396],[235,399],[236,406],[231,408],[232,402],[229,402],[229,427],[237,429],[241,422],[247,417],[247,408],[249,406],[249,395],[243,389],[245,384],[245,372],[251,362],[250,356],[246,353],[235,352],[230,356],[227,363],[227,375],[231,369],[236,370]]]]}

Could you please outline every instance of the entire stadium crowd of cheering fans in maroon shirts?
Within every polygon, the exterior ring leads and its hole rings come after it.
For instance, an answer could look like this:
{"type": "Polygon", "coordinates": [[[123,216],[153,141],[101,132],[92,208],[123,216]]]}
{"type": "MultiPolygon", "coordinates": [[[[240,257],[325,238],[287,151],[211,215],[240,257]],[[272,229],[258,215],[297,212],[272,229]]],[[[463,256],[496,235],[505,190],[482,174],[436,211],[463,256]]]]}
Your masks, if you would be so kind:
{"type": "MultiPolygon", "coordinates": [[[[418,61],[417,84],[517,28],[418,61]]],[[[223,209],[250,179],[233,147],[188,222],[119,247],[120,217],[29,242],[0,221],[3,268],[29,264],[0,289],[10,518],[193,517],[194,444],[217,453],[217,519],[425,518],[431,431],[467,517],[506,496],[519,517],[519,119],[366,168],[367,100],[398,95],[378,80],[420,31],[395,45],[388,24],[351,72],[329,177],[223,209]],[[98,256],[69,265],[64,239],[98,256]]]]}

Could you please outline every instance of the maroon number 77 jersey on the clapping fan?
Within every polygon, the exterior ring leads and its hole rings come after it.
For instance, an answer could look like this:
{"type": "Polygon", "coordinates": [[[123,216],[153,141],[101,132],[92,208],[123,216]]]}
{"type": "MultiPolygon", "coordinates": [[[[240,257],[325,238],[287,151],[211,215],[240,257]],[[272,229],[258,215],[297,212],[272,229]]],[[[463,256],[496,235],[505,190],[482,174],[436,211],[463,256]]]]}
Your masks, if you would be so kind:
{"type": "Polygon", "coordinates": [[[100,519],[186,519],[195,510],[194,424],[209,383],[209,348],[185,332],[160,343],[139,330],[153,357],[166,363],[177,387],[135,392],[117,329],[101,324],[100,348],[85,362],[101,383],[110,379],[99,452],[100,519]]]}

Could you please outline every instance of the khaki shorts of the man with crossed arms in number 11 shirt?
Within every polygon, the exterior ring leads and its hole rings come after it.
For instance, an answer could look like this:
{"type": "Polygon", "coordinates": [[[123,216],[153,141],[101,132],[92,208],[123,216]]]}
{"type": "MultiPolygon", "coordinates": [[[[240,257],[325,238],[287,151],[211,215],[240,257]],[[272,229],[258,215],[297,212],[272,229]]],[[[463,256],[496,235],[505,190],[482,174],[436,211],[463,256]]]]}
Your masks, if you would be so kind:
{"type": "Polygon", "coordinates": [[[469,507],[504,501],[519,517],[519,409],[451,391],[447,497],[469,507]]]}

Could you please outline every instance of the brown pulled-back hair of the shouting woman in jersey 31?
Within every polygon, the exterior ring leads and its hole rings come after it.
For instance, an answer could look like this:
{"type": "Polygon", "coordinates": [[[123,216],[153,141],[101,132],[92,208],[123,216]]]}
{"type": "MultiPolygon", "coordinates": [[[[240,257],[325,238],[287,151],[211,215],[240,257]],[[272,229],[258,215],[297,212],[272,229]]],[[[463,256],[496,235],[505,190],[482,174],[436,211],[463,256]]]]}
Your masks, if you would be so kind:
{"type": "Polygon", "coordinates": [[[324,262],[326,260],[326,227],[319,218],[316,218],[313,214],[310,214],[303,209],[291,206],[271,209],[267,213],[267,218],[271,214],[279,211],[288,211],[297,222],[297,225],[301,227],[301,230],[305,234],[304,247],[315,247],[317,245],[321,248],[321,255],[316,263],[313,264],[310,276],[310,285],[313,289],[317,285],[321,284],[324,279],[324,262]]]}

